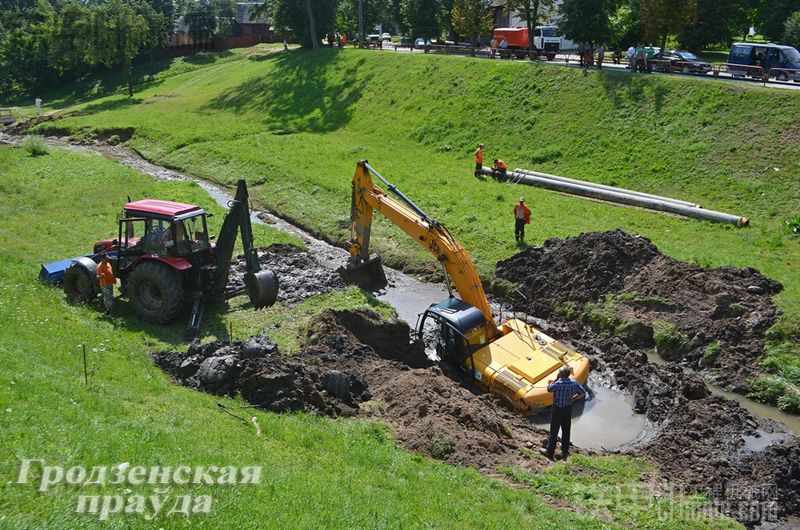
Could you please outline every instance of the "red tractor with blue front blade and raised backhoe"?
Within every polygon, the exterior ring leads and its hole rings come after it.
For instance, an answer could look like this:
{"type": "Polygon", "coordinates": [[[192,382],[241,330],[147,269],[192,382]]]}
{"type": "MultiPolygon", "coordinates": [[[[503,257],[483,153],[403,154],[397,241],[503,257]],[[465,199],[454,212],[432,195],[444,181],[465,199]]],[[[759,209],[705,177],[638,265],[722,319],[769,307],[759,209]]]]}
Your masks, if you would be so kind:
{"type": "Polygon", "coordinates": [[[274,304],[278,280],[272,271],[260,270],[245,181],[237,184],[216,244],[206,225],[210,215],[199,206],[179,202],[129,202],[116,238],[95,243],[92,254],[43,265],[40,278],[63,281],[70,301],[93,301],[100,293],[97,263],[106,255],[120,280],[120,294],[128,297],[139,318],[162,324],[191,306],[190,334],[199,330],[203,301],[246,292],[256,309],[274,304]],[[234,289],[228,286],[228,274],[237,232],[247,272],[244,287],[234,289]]]}

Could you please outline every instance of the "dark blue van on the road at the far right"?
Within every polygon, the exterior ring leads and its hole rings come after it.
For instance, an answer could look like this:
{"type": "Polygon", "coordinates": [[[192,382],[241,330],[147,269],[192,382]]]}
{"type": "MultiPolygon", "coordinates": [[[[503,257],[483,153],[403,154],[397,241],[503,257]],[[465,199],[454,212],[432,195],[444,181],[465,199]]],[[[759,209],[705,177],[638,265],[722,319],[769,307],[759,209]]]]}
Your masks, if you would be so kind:
{"type": "MultiPolygon", "coordinates": [[[[800,83],[800,53],[791,46],[778,44],[737,42],[731,46],[728,63],[741,64],[742,66],[760,66],[765,75],[779,80],[793,80],[800,83]],[[773,69],[783,69],[774,71],[773,69]]],[[[750,75],[755,77],[756,69],[738,69],[728,67],[734,76],[750,75]]]]}

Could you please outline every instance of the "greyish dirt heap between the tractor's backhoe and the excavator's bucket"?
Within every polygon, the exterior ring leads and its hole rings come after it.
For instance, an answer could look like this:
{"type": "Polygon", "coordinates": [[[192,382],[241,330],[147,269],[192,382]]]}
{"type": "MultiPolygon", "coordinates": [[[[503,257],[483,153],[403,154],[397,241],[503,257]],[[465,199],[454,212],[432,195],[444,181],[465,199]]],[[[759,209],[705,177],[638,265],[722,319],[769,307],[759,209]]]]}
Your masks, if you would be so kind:
{"type": "MultiPolygon", "coordinates": [[[[278,300],[288,305],[345,286],[336,271],[323,266],[312,254],[294,245],[275,244],[258,249],[258,254],[261,268],[278,276],[278,300]]],[[[231,263],[228,283],[234,288],[244,287],[246,271],[244,256],[237,256],[231,263]]]]}

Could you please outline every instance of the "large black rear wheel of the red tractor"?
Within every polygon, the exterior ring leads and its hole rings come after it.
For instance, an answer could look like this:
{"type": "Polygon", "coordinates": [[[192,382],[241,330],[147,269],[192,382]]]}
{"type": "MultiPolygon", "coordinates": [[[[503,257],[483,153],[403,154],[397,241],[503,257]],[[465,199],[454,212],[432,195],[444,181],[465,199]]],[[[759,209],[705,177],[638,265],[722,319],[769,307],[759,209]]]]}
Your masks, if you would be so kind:
{"type": "Polygon", "coordinates": [[[128,298],[140,319],[155,324],[173,320],[186,306],[184,278],[159,261],[146,261],[128,276],[128,298]]]}

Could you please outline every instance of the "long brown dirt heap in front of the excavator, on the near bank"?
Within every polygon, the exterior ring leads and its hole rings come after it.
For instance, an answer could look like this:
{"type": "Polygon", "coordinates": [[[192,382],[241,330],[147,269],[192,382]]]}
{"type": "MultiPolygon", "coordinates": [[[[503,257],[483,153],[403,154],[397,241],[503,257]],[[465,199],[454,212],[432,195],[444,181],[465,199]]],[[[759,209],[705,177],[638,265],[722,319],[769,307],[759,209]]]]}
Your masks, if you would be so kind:
{"type": "Polygon", "coordinates": [[[267,337],[256,336],[192,344],[186,352],[153,358],[180,384],[241,393],[266,410],[381,417],[403,446],[446,462],[491,472],[501,459],[529,470],[541,465],[521,448],[541,447],[544,431],[458,373],[443,373],[409,339],[403,321],[370,311],[329,310],[309,329],[305,350],[295,355],[281,355],[267,337]]]}

